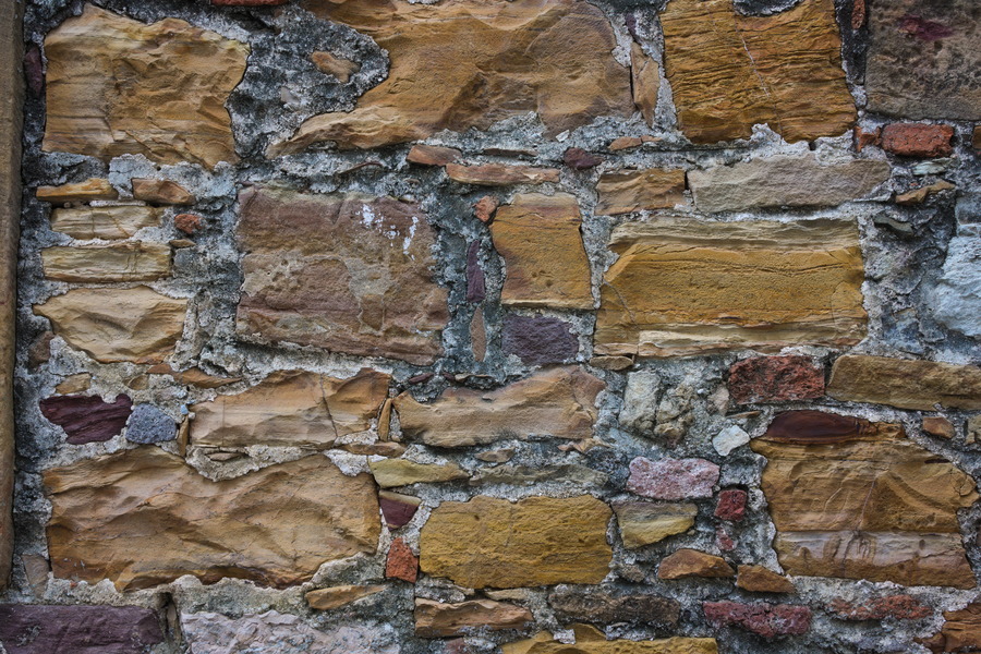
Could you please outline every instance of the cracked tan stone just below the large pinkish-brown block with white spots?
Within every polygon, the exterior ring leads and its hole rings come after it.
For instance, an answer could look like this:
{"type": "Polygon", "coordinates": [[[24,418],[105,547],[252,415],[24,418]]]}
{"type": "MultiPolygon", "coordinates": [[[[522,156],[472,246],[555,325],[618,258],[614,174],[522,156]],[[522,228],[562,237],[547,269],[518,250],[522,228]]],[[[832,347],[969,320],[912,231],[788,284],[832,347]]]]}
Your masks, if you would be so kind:
{"type": "Polygon", "coordinates": [[[194,404],[191,440],[216,447],[331,447],[341,436],[372,426],[390,380],[370,370],[348,379],[272,373],[244,392],[194,404]]]}

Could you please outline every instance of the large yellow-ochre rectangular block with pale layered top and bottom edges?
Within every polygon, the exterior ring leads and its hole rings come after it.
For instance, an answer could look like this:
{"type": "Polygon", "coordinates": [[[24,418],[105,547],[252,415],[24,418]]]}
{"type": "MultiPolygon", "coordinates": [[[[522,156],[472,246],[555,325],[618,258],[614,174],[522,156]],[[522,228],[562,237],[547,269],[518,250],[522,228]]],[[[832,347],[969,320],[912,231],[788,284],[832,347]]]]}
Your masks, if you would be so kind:
{"type": "Polygon", "coordinates": [[[597,354],[843,347],[865,334],[853,222],[665,218],[621,225],[610,247],[597,354]]]}

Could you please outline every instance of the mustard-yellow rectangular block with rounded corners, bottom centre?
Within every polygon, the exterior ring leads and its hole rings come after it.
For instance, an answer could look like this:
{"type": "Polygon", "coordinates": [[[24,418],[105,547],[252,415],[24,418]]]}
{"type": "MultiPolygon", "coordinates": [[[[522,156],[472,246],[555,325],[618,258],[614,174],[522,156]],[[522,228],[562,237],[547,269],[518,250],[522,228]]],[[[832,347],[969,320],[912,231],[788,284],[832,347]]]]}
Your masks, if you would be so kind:
{"type": "Polygon", "coordinates": [[[589,495],[445,501],[422,529],[420,564],[473,589],[600,583],[613,557],[610,516],[589,495]]]}

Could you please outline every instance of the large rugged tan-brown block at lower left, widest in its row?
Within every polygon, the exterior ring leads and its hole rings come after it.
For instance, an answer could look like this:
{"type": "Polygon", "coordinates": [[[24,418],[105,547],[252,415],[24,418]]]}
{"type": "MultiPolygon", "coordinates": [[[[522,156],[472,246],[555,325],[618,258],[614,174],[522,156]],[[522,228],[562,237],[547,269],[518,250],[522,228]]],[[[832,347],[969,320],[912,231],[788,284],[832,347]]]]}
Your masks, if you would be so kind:
{"type": "Polygon", "coordinates": [[[320,564],[374,554],[374,483],[307,457],[211,482],[156,447],[88,459],[44,475],[55,576],[119,590],[193,574],[283,588],[320,564]],[[152,545],[150,545],[152,544],[152,545]]]}

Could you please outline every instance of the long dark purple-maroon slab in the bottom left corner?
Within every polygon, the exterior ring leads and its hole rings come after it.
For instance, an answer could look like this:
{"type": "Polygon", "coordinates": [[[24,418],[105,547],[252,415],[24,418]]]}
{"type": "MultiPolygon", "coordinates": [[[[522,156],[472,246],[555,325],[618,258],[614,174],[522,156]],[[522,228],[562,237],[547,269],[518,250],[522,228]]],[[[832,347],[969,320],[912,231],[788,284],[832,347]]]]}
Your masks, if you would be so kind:
{"type": "Polygon", "coordinates": [[[9,654],[142,654],[162,642],[148,608],[0,605],[0,643],[9,654]]]}

